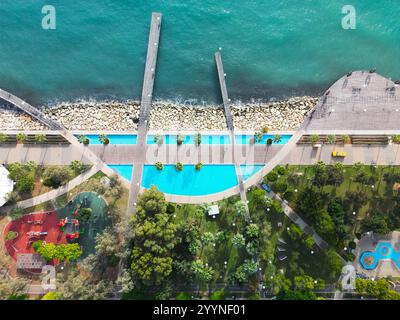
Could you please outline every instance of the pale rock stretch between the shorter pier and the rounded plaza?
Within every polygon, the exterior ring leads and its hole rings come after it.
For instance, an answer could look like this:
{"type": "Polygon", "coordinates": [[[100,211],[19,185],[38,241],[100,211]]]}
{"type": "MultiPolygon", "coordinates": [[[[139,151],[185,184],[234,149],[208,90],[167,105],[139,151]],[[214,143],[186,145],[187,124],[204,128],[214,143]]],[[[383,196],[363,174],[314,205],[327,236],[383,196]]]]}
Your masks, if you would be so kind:
{"type": "Polygon", "coordinates": [[[243,103],[231,107],[235,128],[240,130],[295,130],[318,98],[296,97],[270,103],[243,103]]]}

